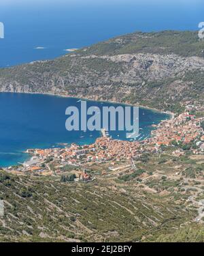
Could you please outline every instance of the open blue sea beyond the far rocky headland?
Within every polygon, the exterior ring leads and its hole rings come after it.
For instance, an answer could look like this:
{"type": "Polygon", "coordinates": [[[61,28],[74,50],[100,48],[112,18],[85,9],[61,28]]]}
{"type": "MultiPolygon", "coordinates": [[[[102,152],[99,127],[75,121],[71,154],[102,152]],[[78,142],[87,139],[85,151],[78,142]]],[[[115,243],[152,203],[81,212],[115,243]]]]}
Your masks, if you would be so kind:
{"type": "Polygon", "coordinates": [[[203,11],[203,0],[1,0],[0,67],[133,31],[197,30],[203,11]]]}

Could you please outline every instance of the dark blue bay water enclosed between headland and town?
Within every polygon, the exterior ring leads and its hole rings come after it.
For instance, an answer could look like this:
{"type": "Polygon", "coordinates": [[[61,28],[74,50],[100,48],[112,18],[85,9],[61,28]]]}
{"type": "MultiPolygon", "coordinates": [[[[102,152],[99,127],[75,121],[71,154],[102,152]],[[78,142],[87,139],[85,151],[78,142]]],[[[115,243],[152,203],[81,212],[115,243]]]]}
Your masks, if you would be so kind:
{"type": "MultiPolygon", "coordinates": [[[[108,102],[87,101],[88,106],[119,106],[108,102]]],[[[93,143],[101,132],[68,132],[65,128],[65,109],[78,106],[77,98],[61,98],[39,94],[0,93],[0,166],[23,162],[29,148],[58,147],[58,143],[93,143]]],[[[140,136],[150,136],[152,124],[169,118],[165,113],[139,109],[140,136]]],[[[109,132],[114,139],[126,139],[125,132],[109,132]],[[119,135],[119,137],[118,137],[119,135]]]]}

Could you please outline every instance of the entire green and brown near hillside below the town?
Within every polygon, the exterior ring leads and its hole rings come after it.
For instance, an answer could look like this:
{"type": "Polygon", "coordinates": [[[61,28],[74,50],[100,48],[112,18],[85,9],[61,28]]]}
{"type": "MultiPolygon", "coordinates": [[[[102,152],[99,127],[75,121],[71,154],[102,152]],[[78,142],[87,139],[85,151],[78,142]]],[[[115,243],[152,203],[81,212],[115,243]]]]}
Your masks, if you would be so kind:
{"type": "Polygon", "coordinates": [[[0,241],[203,242],[203,218],[194,222],[203,215],[203,159],[143,154],[134,173],[99,163],[89,183],[0,171],[0,241]]]}

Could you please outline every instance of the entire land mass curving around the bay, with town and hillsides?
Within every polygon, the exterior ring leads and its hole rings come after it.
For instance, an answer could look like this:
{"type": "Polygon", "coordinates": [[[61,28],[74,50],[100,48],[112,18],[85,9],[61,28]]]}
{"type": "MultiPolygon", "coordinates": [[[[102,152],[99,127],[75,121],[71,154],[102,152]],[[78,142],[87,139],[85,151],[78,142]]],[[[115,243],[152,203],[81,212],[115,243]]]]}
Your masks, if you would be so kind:
{"type": "Polygon", "coordinates": [[[204,42],[131,33],[0,69],[0,91],[147,106],[173,116],[143,141],[29,149],[1,169],[2,241],[203,242],[204,42]]]}

